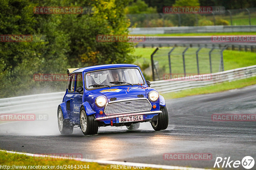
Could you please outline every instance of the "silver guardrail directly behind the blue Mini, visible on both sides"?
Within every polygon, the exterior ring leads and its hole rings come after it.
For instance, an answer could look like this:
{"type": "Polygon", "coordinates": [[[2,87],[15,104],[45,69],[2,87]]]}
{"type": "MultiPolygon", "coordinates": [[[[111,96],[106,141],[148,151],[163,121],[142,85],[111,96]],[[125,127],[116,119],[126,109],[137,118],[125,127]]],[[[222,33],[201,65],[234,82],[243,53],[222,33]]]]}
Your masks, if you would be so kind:
{"type": "MultiPolygon", "coordinates": [[[[256,76],[256,65],[227,70],[219,73],[213,73],[212,80],[208,81],[172,81],[161,80],[152,81],[151,87],[158,90],[159,93],[168,93],[180,91],[184,89],[192,89],[204,87],[223,81],[233,81],[256,76]]],[[[56,107],[61,103],[65,92],[46,93],[19,97],[10,97],[0,99],[0,114],[1,113],[21,113],[42,110],[44,108],[56,107]]]]}

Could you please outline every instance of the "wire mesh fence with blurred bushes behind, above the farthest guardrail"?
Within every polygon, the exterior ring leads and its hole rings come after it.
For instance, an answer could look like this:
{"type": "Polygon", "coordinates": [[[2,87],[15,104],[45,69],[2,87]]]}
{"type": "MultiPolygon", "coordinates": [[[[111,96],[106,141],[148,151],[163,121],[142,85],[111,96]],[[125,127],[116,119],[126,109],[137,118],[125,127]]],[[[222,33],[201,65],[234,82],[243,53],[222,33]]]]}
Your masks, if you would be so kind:
{"type": "Polygon", "coordinates": [[[130,19],[130,27],[134,25],[137,27],[167,27],[173,25],[200,26],[206,23],[208,25],[241,25],[242,23],[255,25],[256,22],[252,19],[255,18],[255,15],[256,8],[224,10],[221,13],[212,12],[211,14],[182,13],[179,11],[168,13],[166,8],[163,8],[163,13],[127,14],[126,17],[130,19]]]}

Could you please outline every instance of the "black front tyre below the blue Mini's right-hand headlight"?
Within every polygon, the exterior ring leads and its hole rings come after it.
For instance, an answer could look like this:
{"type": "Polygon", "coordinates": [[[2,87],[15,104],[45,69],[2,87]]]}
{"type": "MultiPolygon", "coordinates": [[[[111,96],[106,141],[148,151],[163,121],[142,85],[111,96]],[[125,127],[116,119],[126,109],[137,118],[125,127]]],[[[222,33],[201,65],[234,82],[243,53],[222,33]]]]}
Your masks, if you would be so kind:
{"type": "Polygon", "coordinates": [[[151,125],[155,131],[164,130],[168,127],[169,116],[166,106],[160,106],[162,113],[159,113],[156,117],[156,121],[151,121],[151,125]]]}

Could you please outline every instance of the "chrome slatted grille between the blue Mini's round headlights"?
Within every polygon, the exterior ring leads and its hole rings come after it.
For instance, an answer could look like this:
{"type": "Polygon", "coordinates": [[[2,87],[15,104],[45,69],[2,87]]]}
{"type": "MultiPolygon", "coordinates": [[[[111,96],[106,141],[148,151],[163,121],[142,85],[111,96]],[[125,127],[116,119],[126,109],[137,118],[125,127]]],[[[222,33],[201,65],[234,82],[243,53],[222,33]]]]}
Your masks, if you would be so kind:
{"type": "Polygon", "coordinates": [[[105,114],[109,115],[119,115],[125,113],[137,113],[150,111],[151,104],[147,98],[138,98],[138,99],[125,99],[125,100],[116,100],[109,102],[105,107],[105,114]]]}

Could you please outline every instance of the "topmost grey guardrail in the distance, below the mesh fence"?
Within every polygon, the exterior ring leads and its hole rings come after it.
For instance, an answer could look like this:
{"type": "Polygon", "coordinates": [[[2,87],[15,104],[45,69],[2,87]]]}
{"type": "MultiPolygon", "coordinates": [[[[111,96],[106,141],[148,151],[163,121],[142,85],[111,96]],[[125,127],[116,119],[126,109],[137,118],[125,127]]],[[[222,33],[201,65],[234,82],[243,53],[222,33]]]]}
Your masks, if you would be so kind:
{"type": "Polygon", "coordinates": [[[129,28],[130,34],[171,34],[171,33],[205,33],[205,32],[255,32],[256,25],[214,25],[214,26],[176,26],[129,28]]]}

